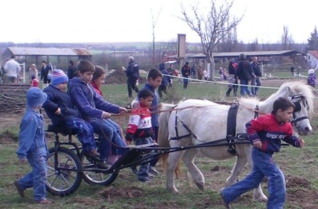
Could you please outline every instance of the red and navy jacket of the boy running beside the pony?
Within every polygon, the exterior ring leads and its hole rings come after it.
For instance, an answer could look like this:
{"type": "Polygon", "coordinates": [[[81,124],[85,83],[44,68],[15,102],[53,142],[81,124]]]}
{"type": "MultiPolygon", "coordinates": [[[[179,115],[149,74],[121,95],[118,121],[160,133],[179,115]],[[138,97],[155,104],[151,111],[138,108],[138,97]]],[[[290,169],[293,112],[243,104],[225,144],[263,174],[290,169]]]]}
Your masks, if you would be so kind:
{"type": "Polygon", "coordinates": [[[262,142],[261,151],[273,154],[281,147],[281,140],[299,147],[300,139],[293,134],[290,122],[279,122],[274,114],[266,114],[246,123],[248,139],[254,143],[262,142]]]}

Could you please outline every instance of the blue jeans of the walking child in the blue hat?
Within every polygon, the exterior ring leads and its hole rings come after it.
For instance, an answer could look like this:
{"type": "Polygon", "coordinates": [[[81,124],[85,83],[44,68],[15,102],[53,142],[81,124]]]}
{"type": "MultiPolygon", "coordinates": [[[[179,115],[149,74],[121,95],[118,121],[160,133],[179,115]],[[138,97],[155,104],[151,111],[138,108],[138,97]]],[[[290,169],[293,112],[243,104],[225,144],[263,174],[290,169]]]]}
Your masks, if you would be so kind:
{"type": "Polygon", "coordinates": [[[33,187],[33,200],[38,202],[46,197],[45,183],[47,174],[47,165],[45,156],[30,155],[26,157],[32,171],[18,179],[18,185],[21,190],[33,187]]]}

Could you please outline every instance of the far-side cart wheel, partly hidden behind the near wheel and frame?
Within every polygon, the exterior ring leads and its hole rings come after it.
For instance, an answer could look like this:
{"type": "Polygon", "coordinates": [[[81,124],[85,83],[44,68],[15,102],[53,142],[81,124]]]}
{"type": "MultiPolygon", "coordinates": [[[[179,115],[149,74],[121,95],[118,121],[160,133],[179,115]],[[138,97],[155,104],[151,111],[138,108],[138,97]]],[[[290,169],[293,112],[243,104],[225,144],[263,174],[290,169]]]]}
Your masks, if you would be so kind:
{"type": "MultiPolygon", "coordinates": [[[[85,157],[80,152],[80,161],[82,162],[82,168],[94,167],[92,160],[90,158],[85,157]]],[[[108,186],[111,185],[117,178],[118,172],[106,174],[101,172],[93,172],[93,171],[83,171],[82,178],[89,185],[103,185],[108,186]]]]}

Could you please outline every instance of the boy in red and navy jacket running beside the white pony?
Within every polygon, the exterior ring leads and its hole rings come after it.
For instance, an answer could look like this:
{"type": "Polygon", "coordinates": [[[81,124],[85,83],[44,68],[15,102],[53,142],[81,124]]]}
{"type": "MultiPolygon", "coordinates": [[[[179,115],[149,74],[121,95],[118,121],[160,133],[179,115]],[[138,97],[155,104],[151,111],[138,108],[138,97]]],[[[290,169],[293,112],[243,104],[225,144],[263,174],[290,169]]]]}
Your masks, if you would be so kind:
{"type": "Polygon", "coordinates": [[[272,154],[279,151],[281,140],[295,147],[304,146],[304,140],[293,135],[293,127],[289,122],[294,108],[295,104],[289,99],[280,97],[274,102],[271,114],[246,123],[246,133],[253,144],[253,168],[244,179],[221,190],[227,209],[241,194],[256,188],[265,176],[269,195],[267,209],[282,209],[286,196],[285,178],[273,161],[272,154]]]}

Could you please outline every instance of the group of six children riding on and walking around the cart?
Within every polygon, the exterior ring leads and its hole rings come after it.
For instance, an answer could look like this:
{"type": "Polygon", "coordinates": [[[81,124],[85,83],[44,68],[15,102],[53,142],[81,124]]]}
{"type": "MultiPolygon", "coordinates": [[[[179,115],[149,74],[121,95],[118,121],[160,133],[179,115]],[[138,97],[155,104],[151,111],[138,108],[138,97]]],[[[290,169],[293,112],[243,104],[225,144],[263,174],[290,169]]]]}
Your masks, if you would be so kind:
{"type": "MultiPolygon", "coordinates": [[[[45,194],[47,146],[43,117],[38,111],[41,107],[53,125],[69,127],[77,133],[86,157],[93,159],[97,167],[108,169],[127,150],[126,144],[131,141],[135,145],[157,142],[159,119],[156,89],[162,77],[159,69],[149,71],[148,83],[138,91],[132,102],[135,109],[129,118],[125,137],[119,125],[110,119],[110,113],[127,112],[127,109],[102,98],[100,87],[105,80],[105,71],[101,67],[89,61],[80,61],[74,78],[69,80],[63,70],[55,69],[43,91],[31,87],[26,93],[26,110],[20,122],[16,154],[19,162],[28,161],[32,171],[14,181],[18,194],[24,197],[24,191],[33,187],[36,203],[51,203],[45,194]],[[151,108],[151,114],[148,108],[151,108]],[[98,147],[94,133],[99,135],[98,147]]],[[[142,164],[137,172],[138,181],[150,181],[150,173],[158,174],[156,163],[154,159],[142,164]]]]}

